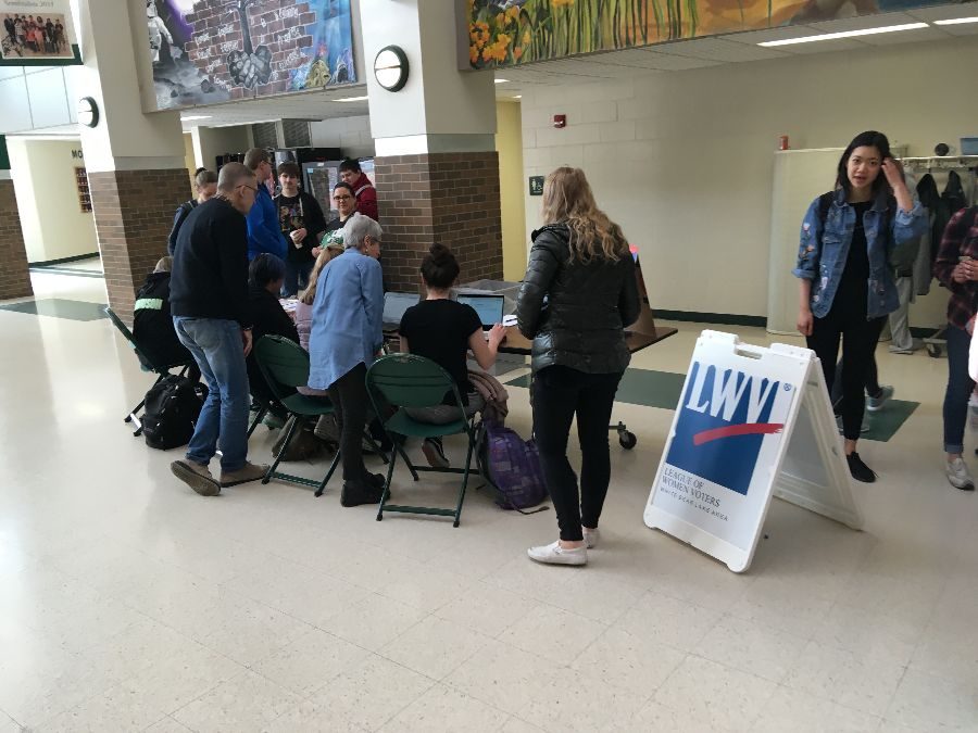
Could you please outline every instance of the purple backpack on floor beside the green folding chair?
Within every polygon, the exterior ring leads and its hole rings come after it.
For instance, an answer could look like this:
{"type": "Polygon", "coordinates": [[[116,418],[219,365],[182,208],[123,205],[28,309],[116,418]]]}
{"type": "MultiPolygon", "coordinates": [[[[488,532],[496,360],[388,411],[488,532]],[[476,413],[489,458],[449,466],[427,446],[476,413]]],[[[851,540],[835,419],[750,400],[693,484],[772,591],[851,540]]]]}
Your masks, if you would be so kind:
{"type": "Polygon", "coordinates": [[[540,470],[540,454],[532,440],[523,440],[494,420],[484,420],[485,456],[489,480],[499,496],[496,503],[503,509],[516,509],[519,514],[536,514],[548,507],[524,511],[547,500],[547,484],[540,470]]]}

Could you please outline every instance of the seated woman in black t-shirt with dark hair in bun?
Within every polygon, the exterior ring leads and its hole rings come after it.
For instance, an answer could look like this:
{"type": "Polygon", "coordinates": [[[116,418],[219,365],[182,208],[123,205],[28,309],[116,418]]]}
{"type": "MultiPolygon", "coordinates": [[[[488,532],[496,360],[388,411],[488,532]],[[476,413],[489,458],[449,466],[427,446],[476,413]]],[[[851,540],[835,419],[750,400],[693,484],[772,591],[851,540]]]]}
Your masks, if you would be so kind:
{"type": "MultiPolygon", "coordinates": [[[[459,271],[459,261],[452,251],[444,244],[432,244],[421,266],[428,296],[404,312],[398,333],[402,352],[429,358],[451,376],[459,388],[465,414],[472,417],[482,408],[485,401],[468,383],[468,351],[472,350],[480,367],[488,369],[496,363],[506,329],[496,324],[487,339],[475,308],[451,300],[459,271]]],[[[449,393],[443,405],[409,409],[408,414],[422,422],[452,422],[459,419],[454,402],[454,395],[449,393]]],[[[448,468],[440,438],[426,439],[422,451],[431,466],[448,468]]]]}

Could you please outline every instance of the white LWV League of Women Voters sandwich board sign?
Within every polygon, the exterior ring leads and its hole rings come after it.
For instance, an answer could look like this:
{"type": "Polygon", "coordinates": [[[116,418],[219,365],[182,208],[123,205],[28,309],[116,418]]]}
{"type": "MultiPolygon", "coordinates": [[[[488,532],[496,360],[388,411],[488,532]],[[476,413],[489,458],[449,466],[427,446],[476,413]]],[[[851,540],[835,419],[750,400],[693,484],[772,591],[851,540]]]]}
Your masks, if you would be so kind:
{"type": "Polygon", "coordinates": [[[742,572],[773,495],[862,528],[820,363],[807,349],[703,331],[645,525],[742,572]]]}

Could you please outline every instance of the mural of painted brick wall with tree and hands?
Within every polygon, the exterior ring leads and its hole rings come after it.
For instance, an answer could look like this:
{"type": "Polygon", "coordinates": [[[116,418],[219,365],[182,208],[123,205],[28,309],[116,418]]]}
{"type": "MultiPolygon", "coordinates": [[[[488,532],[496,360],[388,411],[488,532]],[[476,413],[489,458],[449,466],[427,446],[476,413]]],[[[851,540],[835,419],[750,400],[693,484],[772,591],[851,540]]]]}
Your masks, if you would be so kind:
{"type": "Polygon", "coordinates": [[[146,0],[146,15],[160,110],[356,80],[350,0],[146,0]]]}

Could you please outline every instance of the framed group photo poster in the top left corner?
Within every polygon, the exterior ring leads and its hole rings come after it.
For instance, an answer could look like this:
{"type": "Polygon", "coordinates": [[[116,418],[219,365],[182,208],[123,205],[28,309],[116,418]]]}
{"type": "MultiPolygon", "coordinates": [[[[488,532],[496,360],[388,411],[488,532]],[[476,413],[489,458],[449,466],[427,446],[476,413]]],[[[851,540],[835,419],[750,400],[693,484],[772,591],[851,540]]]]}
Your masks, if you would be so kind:
{"type": "Polygon", "coordinates": [[[74,59],[77,43],[68,0],[0,0],[0,60],[74,59]]]}

